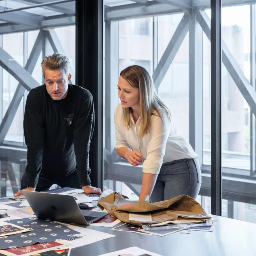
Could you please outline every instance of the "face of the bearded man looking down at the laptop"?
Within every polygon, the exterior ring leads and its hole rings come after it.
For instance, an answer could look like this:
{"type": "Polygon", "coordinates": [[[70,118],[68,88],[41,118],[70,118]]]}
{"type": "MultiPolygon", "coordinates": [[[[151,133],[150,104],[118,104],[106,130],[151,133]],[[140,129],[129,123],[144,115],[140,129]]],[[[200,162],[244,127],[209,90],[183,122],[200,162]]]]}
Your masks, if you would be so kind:
{"type": "Polygon", "coordinates": [[[63,69],[46,69],[44,73],[46,90],[53,100],[62,100],[67,96],[68,83],[71,74],[67,75],[63,69]]]}

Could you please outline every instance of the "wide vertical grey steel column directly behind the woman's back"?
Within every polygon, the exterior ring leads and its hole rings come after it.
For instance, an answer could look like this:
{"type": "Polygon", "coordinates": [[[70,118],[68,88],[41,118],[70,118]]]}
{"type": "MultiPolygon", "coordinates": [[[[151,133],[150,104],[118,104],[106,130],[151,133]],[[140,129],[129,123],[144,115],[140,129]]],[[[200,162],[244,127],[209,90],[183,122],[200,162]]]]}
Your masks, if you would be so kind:
{"type": "Polygon", "coordinates": [[[203,163],[203,31],[196,10],[189,16],[189,142],[203,163]]]}

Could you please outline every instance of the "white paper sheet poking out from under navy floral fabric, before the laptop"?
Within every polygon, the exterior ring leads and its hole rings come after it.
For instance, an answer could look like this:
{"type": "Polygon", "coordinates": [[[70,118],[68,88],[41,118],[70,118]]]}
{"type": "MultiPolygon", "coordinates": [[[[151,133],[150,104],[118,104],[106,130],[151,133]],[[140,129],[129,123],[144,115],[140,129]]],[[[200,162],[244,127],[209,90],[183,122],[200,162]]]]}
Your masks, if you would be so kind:
{"type": "MultiPolygon", "coordinates": [[[[115,237],[115,235],[111,235],[111,234],[108,234],[108,233],[103,233],[103,232],[96,231],[96,230],[89,229],[89,228],[76,227],[76,226],[73,226],[73,225],[69,225],[68,227],[75,227],[73,229],[75,231],[80,232],[81,235],[83,235],[83,237],[81,237],[79,239],[76,239],[77,237],[74,237],[74,240],[67,241],[68,243],[71,243],[71,245],[67,246],[66,248],[71,248],[72,249],[72,248],[76,248],[76,247],[79,247],[79,246],[84,246],[84,245],[87,245],[87,244],[96,243],[98,241],[108,239],[108,238],[111,238],[111,237],[115,237]]],[[[79,235],[77,235],[77,236],[79,236],[79,235]]]]}

